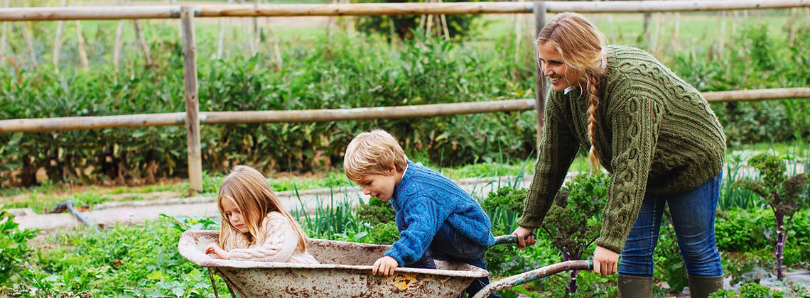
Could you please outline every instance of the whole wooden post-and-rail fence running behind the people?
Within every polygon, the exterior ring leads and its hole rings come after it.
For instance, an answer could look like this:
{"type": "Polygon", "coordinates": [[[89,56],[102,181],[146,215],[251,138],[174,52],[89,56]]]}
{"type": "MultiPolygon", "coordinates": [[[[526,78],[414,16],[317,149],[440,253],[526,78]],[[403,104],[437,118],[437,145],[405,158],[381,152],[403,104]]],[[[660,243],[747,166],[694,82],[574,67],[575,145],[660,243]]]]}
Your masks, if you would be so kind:
{"type": "MultiPolygon", "coordinates": [[[[53,130],[92,130],[108,127],[186,126],[188,135],[189,184],[203,190],[200,149],[201,123],[264,123],[347,121],[403,117],[435,117],[468,113],[537,110],[538,139],[543,125],[545,79],[535,70],[538,86],[534,99],[497,100],[458,104],[425,104],[399,107],[322,109],[295,111],[249,111],[199,113],[194,18],[259,16],[340,15],[458,15],[534,14],[535,31],[545,23],[547,12],[641,13],[660,11],[730,11],[810,7],[810,0],[709,0],[709,1],[623,1],[623,2],[445,2],[364,4],[266,4],[200,6],[86,6],[0,8],[2,21],[51,21],[79,19],[181,19],[185,67],[185,113],[156,113],[107,117],[58,117],[0,121],[0,133],[53,130]],[[371,113],[369,113],[371,112],[371,113]]],[[[706,92],[709,101],[774,100],[808,97],[810,87],[706,92]]]]}

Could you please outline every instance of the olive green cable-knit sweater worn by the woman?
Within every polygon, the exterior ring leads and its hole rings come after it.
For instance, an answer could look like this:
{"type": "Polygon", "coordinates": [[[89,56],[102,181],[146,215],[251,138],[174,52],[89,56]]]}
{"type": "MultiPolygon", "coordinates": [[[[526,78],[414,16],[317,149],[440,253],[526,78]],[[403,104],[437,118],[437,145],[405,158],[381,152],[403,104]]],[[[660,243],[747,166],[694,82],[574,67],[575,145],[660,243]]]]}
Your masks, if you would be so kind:
{"type": "MultiPolygon", "coordinates": [[[[610,172],[596,245],[621,253],[644,194],[678,194],[723,169],[726,138],[697,90],[641,49],[606,47],[595,149],[610,172]]],[[[539,228],[580,147],[590,148],[587,96],[552,91],[535,176],[518,224],[539,228]]]]}

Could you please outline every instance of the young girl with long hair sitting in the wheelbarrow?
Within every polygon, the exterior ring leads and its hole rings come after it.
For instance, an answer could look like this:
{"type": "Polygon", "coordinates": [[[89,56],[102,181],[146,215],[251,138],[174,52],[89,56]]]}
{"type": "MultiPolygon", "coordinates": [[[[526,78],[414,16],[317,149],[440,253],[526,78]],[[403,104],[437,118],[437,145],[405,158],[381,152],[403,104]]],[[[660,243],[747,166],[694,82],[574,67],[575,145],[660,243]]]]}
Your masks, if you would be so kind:
{"type": "Polygon", "coordinates": [[[318,264],[306,251],[304,231],[256,169],[234,167],[222,181],[217,205],[222,215],[220,244],[211,243],[206,253],[226,260],[318,264]]]}

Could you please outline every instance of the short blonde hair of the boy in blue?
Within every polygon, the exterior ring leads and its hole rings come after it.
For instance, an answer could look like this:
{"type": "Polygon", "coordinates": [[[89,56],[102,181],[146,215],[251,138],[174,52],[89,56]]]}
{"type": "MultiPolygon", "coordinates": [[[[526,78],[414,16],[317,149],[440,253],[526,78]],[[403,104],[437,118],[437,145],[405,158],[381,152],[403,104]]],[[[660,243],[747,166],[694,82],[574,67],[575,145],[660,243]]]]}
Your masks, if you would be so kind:
{"type": "Polygon", "coordinates": [[[385,130],[371,130],[358,134],[346,147],[343,172],[349,180],[358,183],[366,175],[388,175],[391,169],[403,172],[407,156],[397,139],[385,130]]]}

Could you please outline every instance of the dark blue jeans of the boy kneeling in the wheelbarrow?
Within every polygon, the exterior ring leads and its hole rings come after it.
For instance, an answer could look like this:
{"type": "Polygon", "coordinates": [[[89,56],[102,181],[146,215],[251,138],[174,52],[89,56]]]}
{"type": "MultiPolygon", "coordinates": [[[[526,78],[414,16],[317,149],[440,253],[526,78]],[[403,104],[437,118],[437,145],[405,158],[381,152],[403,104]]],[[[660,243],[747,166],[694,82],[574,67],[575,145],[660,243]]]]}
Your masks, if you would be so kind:
{"type": "MultiPolygon", "coordinates": [[[[399,220],[397,227],[399,228],[399,220]]],[[[443,224],[433,236],[433,241],[430,247],[425,250],[424,254],[419,260],[411,264],[406,264],[406,267],[411,268],[430,268],[436,269],[433,259],[442,261],[463,262],[472,266],[479,267],[487,270],[487,263],[484,261],[484,254],[487,252],[487,247],[479,245],[471,241],[467,236],[458,234],[450,224],[443,224]]],[[[472,297],[475,293],[479,292],[482,288],[489,284],[489,277],[484,276],[472,281],[470,286],[467,287],[467,295],[472,297]]],[[[490,298],[500,298],[497,294],[492,294],[490,298]]]]}

